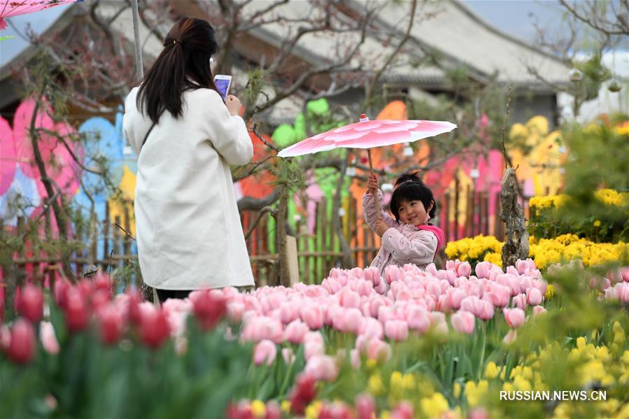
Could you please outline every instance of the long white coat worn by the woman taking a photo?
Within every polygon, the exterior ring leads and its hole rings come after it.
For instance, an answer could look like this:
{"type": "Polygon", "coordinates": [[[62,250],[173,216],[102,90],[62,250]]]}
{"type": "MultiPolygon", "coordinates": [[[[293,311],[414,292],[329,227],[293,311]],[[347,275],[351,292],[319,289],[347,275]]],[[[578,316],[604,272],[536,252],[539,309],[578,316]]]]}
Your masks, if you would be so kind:
{"type": "Polygon", "coordinates": [[[253,157],[245,122],[211,89],[183,93],[183,115],[152,125],[125,101],[125,136],[138,158],[136,239],[143,280],[161,290],[254,285],[229,164],[253,157]],[[140,150],[141,149],[141,150],[140,150]]]}

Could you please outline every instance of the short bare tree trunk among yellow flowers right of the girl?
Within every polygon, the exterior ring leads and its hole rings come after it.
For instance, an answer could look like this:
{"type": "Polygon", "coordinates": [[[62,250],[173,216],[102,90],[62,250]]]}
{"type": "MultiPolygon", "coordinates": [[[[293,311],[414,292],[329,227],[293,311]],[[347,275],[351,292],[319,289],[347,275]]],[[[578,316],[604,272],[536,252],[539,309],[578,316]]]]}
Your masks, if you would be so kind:
{"type": "Polygon", "coordinates": [[[500,203],[502,211],[500,220],[507,223],[507,241],[502,246],[502,267],[514,266],[518,259],[528,257],[528,232],[524,211],[518,204],[518,184],[516,171],[509,167],[502,176],[500,203]]]}

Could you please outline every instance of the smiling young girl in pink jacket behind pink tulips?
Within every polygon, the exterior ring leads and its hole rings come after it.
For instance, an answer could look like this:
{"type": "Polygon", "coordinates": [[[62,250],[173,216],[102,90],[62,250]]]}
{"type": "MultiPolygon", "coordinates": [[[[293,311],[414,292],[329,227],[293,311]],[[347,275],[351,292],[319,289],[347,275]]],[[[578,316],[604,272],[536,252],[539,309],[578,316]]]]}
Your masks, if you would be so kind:
{"type": "Polygon", "coordinates": [[[412,263],[425,269],[434,261],[437,250],[446,243],[444,232],[428,224],[436,210],[432,191],[417,173],[400,176],[395,182],[390,205],[395,220],[382,209],[380,214],[376,213],[374,197],[380,201],[379,208],[382,208],[378,178],[369,176],[367,192],[362,196],[362,212],[369,227],[382,237],[382,247],[369,266],[378,268],[381,275],[391,264],[402,267],[412,263]]]}

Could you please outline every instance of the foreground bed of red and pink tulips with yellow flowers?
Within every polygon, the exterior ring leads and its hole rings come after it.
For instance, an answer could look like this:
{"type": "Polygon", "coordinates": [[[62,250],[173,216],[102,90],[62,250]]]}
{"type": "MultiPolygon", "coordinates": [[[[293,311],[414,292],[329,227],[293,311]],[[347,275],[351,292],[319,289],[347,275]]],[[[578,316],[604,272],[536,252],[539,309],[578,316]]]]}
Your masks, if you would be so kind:
{"type": "Polygon", "coordinates": [[[628,273],[554,269],[553,295],[532,260],[332,269],[321,285],[198,291],[161,308],[113,297],[104,277],[46,297],[27,285],[0,330],[0,404],[15,417],[620,416],[628,273]],[[591,383],[614,402],[522,410],[499,397],[591,383]]]}

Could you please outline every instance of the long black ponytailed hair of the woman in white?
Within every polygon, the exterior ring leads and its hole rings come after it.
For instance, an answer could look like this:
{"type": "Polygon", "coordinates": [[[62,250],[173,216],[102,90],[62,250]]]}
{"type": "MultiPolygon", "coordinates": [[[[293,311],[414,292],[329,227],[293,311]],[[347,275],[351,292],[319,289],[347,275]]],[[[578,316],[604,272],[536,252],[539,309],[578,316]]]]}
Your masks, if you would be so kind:
{"type": "MultiPolygon", "coordinates": [[[[210,57],[218,52],[214,29],[205,20],[182,17],[164,39],[164,49],[144,76],[136,105],[157,124],[164,110],[174,118],[182,113],[185,90],[217,90],[210,57]]],[[[218,90],[217,90],[218,91],[218,90]]]]}

